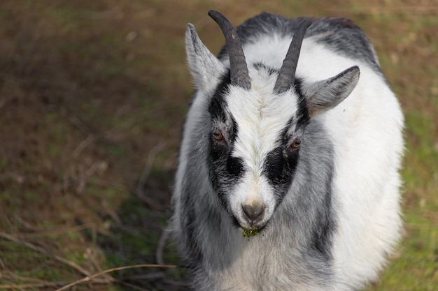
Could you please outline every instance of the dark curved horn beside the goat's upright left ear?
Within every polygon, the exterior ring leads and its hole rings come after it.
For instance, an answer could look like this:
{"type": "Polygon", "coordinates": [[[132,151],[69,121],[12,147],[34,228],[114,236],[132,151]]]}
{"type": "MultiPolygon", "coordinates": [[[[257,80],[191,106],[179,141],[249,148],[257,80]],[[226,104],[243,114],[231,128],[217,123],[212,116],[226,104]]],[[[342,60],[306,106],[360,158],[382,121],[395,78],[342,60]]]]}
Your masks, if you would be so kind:
{"type": "Polygon", "coordinates": [[[227,41],[229,70],[232,84],[236,84],[243,89],[250,89],[251,82],[248,74],[248,67],[246,66],[245,55],[243,54],[236,29],[234,29],[227,18],[221,13],[218,13],[218,11],[210,10],[209,15],[219,25],[225,36],[225,40],[227,41]]]}

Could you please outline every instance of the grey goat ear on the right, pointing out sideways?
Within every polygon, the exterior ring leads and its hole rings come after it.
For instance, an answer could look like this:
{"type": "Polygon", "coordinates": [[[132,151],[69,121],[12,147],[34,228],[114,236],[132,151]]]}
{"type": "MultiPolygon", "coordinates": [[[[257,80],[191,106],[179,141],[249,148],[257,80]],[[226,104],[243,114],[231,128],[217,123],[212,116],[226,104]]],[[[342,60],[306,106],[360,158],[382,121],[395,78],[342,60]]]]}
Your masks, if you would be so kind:
{"type": "Polygon", "coordinates": [[[332,109],[341,103],[359,81],[360,70],[353,66],[327,80],[314,82],[302,87],[311,117],[332,109]]]}

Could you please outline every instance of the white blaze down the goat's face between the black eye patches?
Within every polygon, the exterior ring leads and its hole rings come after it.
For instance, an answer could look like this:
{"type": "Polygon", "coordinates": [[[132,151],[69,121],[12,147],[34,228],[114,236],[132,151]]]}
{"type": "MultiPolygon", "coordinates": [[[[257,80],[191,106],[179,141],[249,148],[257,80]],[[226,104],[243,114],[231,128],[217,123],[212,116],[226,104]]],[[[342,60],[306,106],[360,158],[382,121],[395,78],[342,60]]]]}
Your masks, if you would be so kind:
{"type": "Polygon", "coordinates": [[[246,91],[234,87],[227,96],[228,110],[239,124],[232,156],[241,158],[247,170],[239,186],[229,193],[229,200],[234,216],[248,228],[250,225],[241,205],[254,201],[264,204],[266,209],[261,225],[267,223],[274,212],[274,189],[262,175],[263,163],[297,109],[296,96],[274,95],[276,75],[268,76],[266,71],[255,68],[249,68],[249,71],[253,88],[246,91]]]}

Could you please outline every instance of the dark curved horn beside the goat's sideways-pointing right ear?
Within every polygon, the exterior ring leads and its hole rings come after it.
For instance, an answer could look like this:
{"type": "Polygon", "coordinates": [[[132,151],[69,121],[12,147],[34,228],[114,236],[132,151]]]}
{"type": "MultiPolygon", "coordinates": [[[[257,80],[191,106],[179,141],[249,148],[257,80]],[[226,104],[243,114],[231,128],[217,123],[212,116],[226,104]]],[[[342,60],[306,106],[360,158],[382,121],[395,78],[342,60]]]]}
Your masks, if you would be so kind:
{"type": "Polygon", "coordinates": [[[277,80],[275,82],[274,92],[281,94],[288,91],[295,82],[295,70],[297,70],[299,51],[303,42],[304,34],[312,21],[310,19],[303,20],[295,32],[292,41],[290,42],[288,53],[283,60],[283,66],[281,66],[280,73],[278,73],[277,80]]]}

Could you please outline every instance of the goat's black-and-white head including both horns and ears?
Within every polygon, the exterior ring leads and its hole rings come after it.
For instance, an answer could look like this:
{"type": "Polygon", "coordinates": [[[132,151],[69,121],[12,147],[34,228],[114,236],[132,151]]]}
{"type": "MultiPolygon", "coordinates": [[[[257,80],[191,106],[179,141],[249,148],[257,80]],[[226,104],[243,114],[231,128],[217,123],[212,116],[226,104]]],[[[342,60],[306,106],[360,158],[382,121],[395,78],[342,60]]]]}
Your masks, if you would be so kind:
{"type": "Polygon", "coordinates": [[[359,68],[311,84],[295,80],[311,20],[300,24],[280,70],[262,63],[248,66],[232,24],[216,11],[209,15],[227,40],[229,69],[199,40],[192,24],[186,32],[195,85],[209,100],[211,126],[204,135],[209,139],[209,179],[236,223],[260,230],[292,184],[306,126],[353,91],[359,68]]]}

